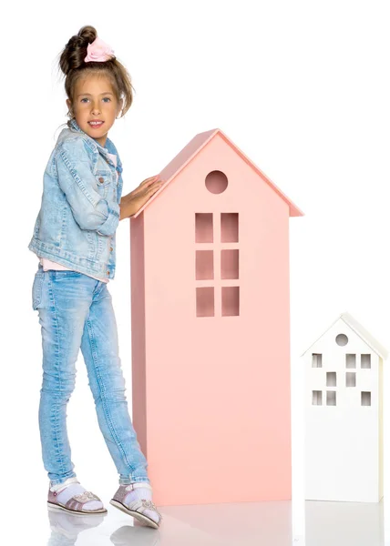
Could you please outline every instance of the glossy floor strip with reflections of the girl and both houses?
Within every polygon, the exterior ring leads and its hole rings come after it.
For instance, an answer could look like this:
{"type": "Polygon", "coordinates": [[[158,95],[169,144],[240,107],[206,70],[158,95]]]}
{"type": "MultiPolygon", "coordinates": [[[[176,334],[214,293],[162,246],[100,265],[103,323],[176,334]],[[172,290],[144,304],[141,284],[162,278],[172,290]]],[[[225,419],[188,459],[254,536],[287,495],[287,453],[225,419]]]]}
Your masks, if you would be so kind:
{"type": "MultiPolygon", "coordinates": [[[[120,511],[48,509],[47,546],[385,546],[384,503],[299,501],[167,506],[151,529],[120,511]],[[293,506],[293,510],[292,510],[293,506]],[[296,530],[292,534],[292,513],[296,530]],[[302,522],[302,525],[301,525],[302,522]],[[304,536],[298,536],[301,535],[304,536]]],[[[389,509],[389,507],[387,507],[389,509]]]]}

